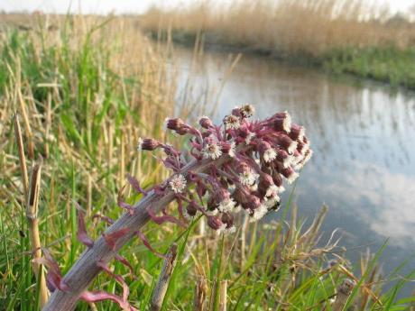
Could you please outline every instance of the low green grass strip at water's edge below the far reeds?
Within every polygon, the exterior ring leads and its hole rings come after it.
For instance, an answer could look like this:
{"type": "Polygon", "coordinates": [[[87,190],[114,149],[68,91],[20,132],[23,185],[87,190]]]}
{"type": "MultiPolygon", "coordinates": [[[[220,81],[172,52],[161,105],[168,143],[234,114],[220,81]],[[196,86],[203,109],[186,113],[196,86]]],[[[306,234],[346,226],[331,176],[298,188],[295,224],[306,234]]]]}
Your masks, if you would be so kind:
{"type": "MultiPolygon", "coordinates": [[[[166,41],[167,32],[148,32],[153,40],[166,41]]],[[[285,52],[269,48],[255,47],[250,43],[225,40],[215,33],[202,33],[205,46],[222,47],[272,59],[287,61],[294,65],[324,69],[328,73],[347,74],[359,78],[368,78],[390,84],[392,87],[415,89],[415,47],[400,49],[393,45],[369,46],[364,48],[345,46],[329,48],[317,54],[297,50],[285,52]]],[[[197,41],[195,32],[173,30],[171,40],[192,47],[197,41]]]]}

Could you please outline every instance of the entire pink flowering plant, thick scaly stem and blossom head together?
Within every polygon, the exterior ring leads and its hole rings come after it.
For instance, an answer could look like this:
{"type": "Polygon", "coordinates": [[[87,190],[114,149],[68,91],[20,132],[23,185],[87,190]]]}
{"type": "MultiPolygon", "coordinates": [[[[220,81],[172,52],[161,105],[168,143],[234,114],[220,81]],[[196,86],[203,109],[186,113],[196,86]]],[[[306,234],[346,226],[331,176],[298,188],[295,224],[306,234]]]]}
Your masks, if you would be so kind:
{"type": "MultiPolygon", "coordinates": [[[[187,164],[183,154],[172,145],[149,138],[140,139],[140,151],[161,149],[167,155],[161,161],[174,175],[148,191],[130,177],[130,183],[143,193],[143,199],[130,206],[123,202],[120,193],[117,203],[126,209],[126,213],[95,242],[88,238],[84,215],[79,211],[78,238],[88,250],[82,253],[63,279],[58,264],[52,266],[54,270],[50,269],[50,279],[56,279],[55,290],[43,310],[73,310],[79,298],[89,302],[110,299],[125,310],[135,310],[126,301],[126,290],[123,297],[117,297],[103,291],[88,292],[87,288],[99,272],[105,270],[103,267],[107,267],[109,261],[114,258],[124,261],[118,251],[134,237],[156,253],[142,232],[143,225],[150,220],[156,224],[168,221],[181,225],[186,215],[191,217],[199,211],[217,233],[233,233],[235,213],[244,211],[250,221],[258,221],[268,212],[278,209],[282,178],[293,182],[299,176],[296,170],[309,160],[312,151],[303,128],[291,124],[290,114],[273,114],[263,122],[247,120],[253,113],[252,105],[235,108],[219,126],[203,117],[200,123],[205,130],[202,132],[179,118],[168,118],[167,128],[180,135],[192,136],[189,143],[194,160],[187,164]],[[189,188],[189,183],[195,183],[196,188],[189,188]],[[195,191],[200,205],[194,200],[195,191]],[[205,195],[208,196],[206,204],[205,195]],[[177,201],[180,218],[168,215],[165,210],[173,200],[177,201]],[[159,212],[162,212],[161,216],[157,216],[159,212]]],[[[116,276],[116,279],[125,286],[121,276],[116,276]]]]}

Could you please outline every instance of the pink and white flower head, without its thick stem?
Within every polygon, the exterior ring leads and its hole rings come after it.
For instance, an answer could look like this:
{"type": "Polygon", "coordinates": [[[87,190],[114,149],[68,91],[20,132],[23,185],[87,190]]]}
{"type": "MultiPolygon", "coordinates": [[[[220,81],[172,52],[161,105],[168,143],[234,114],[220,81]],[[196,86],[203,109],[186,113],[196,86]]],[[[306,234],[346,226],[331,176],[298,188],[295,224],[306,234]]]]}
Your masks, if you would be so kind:
{"type": "Polygon", "coordinates": [[[256,221],[278,208],[283,180],[298,178],[312,151],[304,128],[291,123],[287,112],[262,121],[250,120],[253,114],[253,105],[242,105],[219,125],[202,116],[199,128],[180,118],[166,119],[167,129],[190,136],[189,156],[209,162],[203,172],[185,170],[189,162],[170,144],[140,140],[140,151],[164,151],[162,162],[174,174],[156,190],[174,193],[182,218],[200,213],[217,233],[232,232],[236,213],[256,221]]]}

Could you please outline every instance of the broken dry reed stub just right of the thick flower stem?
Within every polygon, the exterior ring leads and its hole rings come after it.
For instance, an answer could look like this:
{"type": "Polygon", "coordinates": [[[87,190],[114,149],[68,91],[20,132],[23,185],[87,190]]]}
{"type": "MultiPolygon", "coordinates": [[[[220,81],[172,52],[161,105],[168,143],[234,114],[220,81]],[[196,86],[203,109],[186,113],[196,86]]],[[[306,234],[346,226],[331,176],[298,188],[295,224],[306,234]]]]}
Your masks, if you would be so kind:
{"type": "Polygon", "coordinates": [[[169,279],[171,278],[171,273],[173,272],[174,265],[176,263],[176,257],[177,244],[173,243],[166,255],[157,285],[152,292],[152,302],[150,305],[150,310],[152,311],[158,311],[161,309],[164,296],[166,295],[166,291],[169,286],[169,279]]]}

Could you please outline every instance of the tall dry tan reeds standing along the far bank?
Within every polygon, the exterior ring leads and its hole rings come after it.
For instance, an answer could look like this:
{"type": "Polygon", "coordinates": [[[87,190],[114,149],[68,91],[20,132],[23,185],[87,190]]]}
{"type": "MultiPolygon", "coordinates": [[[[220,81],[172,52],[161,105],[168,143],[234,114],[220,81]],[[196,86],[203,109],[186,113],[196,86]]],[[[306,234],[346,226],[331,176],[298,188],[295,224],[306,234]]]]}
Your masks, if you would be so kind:
{"type": "MultiPolygon", "coordinates": [[[[414,43],[414,26],[392,21],[388,10],[363,0],[208,1],[163,11],[152,8],[143,16],[145,29],[182,32],[183,40],[204,33],[205,41],[243,45],[267,52],[308,53],[355,46],[414,43]]],[[[177,36],[179,36],[178,34],[177,36]]]]}

